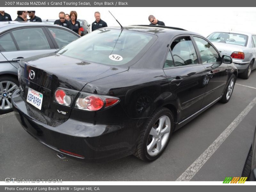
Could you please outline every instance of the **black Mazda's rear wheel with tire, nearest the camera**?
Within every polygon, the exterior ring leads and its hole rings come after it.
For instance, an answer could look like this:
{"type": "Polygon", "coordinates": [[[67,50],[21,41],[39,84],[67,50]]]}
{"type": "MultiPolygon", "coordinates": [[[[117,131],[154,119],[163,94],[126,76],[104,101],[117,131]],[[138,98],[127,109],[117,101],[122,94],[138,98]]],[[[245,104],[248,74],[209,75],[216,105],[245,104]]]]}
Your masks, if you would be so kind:
{"type": "Polygon", "coordinates": [[[154,161],[164,152],[173,132],[173,115],[167,108],[156,110],[140,135],[134,155],[143,161],[154,161]]]}

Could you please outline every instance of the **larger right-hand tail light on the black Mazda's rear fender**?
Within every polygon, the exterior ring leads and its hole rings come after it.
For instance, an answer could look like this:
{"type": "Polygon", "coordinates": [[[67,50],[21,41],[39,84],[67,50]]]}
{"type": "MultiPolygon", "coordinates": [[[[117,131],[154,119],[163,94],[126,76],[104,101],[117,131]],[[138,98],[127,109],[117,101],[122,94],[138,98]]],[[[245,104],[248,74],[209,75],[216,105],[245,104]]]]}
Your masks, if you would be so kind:
{"type": "Polygon", "coordinates": [[[116,105],[119,98],[81,92],[76,100],[76,108],[86,111],[98,111],[116,105]]]}

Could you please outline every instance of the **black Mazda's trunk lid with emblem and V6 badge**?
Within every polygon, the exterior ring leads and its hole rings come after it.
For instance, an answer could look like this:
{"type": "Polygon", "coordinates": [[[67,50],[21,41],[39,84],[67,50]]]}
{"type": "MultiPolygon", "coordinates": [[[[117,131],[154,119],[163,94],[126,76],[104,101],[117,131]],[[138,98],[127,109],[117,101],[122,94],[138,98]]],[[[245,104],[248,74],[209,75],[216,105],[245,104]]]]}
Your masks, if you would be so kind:
{"type": "Polygon", "coordinates": [[[61,122],[68,119],[72,104],[85,84],[128,70],[127,67],[112,67],[62,55],[48,54],[46,57],[44,56],[20,61],[19,78],[21,90],[23,90],[21,95],[25,102],[28,103],[28,93],[31,89],[43,95],[41,109],[30,103],[28,106],[33,113],[36,111],[41,114],[42,117],[39,119],[43,119],[43,123],[48,122],[47,124],[52,124],[51,119],[61,122]],[[70,107],[60,105],[55,101],[55,91],[58,88],[68,89],[74,93],[70,107]]]}

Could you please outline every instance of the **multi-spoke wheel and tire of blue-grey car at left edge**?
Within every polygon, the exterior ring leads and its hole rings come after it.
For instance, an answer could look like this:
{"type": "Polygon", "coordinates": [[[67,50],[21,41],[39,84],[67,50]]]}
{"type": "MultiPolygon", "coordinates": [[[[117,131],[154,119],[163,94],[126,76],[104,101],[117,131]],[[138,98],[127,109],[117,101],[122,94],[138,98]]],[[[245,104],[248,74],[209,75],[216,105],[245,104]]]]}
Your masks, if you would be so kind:
{"type": "Polygon", "coordinates": [[[12,111],[11,95],[18,87],[18,79],[12,76],[0,77],[0,114],[12,111]]]}

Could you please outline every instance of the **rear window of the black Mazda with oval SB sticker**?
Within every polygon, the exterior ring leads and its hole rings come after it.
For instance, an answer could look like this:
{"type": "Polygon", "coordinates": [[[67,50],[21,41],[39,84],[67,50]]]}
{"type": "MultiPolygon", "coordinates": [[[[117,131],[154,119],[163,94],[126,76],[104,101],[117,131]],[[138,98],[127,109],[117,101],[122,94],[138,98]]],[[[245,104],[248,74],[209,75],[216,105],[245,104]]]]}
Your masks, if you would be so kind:
{"type": "Polygon", "coordinates": [[[123,65],[144,54],[153,43],[154,35],[118,29],[99,29],[58,53],[80,60],[107,65],[123,65]]]}

